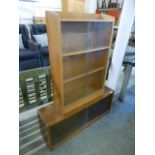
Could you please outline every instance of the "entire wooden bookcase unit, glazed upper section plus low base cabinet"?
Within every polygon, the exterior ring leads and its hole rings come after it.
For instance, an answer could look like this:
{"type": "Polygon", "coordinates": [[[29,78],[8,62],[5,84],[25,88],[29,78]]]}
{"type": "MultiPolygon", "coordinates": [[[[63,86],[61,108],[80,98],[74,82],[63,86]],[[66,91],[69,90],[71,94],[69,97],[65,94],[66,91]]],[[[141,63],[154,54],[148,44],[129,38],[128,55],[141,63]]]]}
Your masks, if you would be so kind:
{"type": "Polygon", "coordinates": [[[91,125],[111,109],[105,87],[114,18],[46,11],[54,103],[38,111],[50,149],[91,125]]]}

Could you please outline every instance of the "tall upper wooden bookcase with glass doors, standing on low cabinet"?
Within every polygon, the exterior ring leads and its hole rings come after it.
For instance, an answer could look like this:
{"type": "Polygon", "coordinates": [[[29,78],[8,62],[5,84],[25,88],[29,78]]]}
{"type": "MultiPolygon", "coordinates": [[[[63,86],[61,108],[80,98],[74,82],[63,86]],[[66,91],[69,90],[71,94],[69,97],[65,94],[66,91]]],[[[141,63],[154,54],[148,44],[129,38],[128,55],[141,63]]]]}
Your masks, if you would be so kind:
{"type": "Polygon", "coordinates": [[[54,107],[74,113],[104,94],[114,18],[46,11],[54,107]]]}

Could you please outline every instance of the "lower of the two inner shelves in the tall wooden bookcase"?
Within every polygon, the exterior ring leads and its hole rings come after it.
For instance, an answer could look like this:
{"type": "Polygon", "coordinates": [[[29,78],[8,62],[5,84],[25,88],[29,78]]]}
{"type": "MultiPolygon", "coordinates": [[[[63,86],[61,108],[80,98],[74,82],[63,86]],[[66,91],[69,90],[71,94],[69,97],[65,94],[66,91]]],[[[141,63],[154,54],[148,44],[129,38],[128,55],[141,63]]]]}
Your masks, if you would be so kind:
{"type": "Polygon", "coordinates": [[[77,79],[79,79],[79,78],[82,78],[82,77],[91,75],[91,74],[93,74],[93,73],[96,73],[96,72],[101,71],[101,70],[104,70],[104,69],[105,69],[104,67],[100,67],[100,68],[98,68],[98,69],[94,69],[94,70],[89,71],[89,72],[87,72],[87,73],[85,73],[85,74],[81,74],[81,75],[75,76],[75,77],[73,77],[73,78],[70,78],[70,79],[68,79],[68,80],[65,80],[64,83],[68,83],[68,82],[71,82],[71,81],[73,81],[73,80],[77,80],[77,79]]]}

